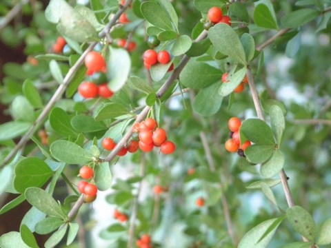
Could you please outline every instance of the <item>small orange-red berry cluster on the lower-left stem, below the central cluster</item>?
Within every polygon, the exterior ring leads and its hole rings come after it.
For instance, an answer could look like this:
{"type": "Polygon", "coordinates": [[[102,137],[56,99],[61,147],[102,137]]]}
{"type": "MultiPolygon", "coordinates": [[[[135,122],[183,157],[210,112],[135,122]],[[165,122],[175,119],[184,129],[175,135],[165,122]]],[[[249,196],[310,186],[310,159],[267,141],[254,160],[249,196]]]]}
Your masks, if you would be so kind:
{"type": "Polygon", "coordinates": [[[95,198],[97,198],[97,185],[95,185],[94,183],[89,183],[89,181],[92,181],[93,175],[94,171],[88,165],[84,165],[83,167],[81,167],[81,169],[79,169],[79,176],[86,180],[81,180],[78,183],[77,188],[79,192],[81,192],[81,194],[86,194],[86,196],[84,196],[84,201],[86,203],[91,203],[95,200],[95,198]]]}

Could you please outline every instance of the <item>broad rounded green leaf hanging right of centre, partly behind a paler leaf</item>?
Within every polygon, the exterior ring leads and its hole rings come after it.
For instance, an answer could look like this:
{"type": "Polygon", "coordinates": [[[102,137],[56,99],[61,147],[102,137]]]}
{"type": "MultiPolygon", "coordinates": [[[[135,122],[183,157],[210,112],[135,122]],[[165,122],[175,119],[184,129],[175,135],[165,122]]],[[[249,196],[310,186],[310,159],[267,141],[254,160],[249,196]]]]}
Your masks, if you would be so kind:
{"type": "Polygon", "coordinates": [[[203,116],[215,114],[223,100],[218,93],[219,86],[220,83],[212,83],[201,89],[192,103],[193,110],[203,116]]]}

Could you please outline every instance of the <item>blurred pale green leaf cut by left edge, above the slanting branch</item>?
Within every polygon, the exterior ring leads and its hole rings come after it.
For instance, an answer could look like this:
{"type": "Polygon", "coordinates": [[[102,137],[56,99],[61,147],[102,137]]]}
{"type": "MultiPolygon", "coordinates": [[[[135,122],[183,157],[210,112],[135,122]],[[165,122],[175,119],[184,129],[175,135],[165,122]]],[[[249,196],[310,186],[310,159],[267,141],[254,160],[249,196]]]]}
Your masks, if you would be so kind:
{"type": "Polygon", "coordinates": [[[31,126],[31,123],[23,121],[10,121],[0,125],[0,141],[6,141],[10,138],[17,138],[25,134],[31,126]]]}

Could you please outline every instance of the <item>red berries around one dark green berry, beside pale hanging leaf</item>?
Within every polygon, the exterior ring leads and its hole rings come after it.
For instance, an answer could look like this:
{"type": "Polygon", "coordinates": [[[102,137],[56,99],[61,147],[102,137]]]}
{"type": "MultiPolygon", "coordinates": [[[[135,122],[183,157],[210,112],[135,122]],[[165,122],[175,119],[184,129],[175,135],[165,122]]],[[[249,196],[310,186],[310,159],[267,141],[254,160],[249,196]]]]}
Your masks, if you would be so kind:
{"type": "Polygon", "coordinates": [[[103,56],[97,52],[88,52],[85,57],[85,65],[88,68],[86,74],[91,76],[91,81],[83,81],[79,87],[78,92],[86,99],[101,96],[109,98],[114,94],[108,87],[106,81],[106,61],[103,56]]]}

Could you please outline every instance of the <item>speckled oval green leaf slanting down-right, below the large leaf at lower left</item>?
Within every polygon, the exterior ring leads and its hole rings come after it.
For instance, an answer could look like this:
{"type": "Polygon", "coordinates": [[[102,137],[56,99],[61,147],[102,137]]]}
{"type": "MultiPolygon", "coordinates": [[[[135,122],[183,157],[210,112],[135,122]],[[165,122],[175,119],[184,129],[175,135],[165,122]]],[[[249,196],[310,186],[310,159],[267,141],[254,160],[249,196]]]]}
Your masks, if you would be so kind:
{"type": "Polygon", "coordinates": [[[30,187],[26,189],[24,193],[26,196],[26,200],[28,202],[49,216],[57,217],[57,218],[65,218],[66,216],[61,211],[59,204],[57,203],[50,194],[48,194],[45,190],[39,189],[37,187],[30,187]]]}

